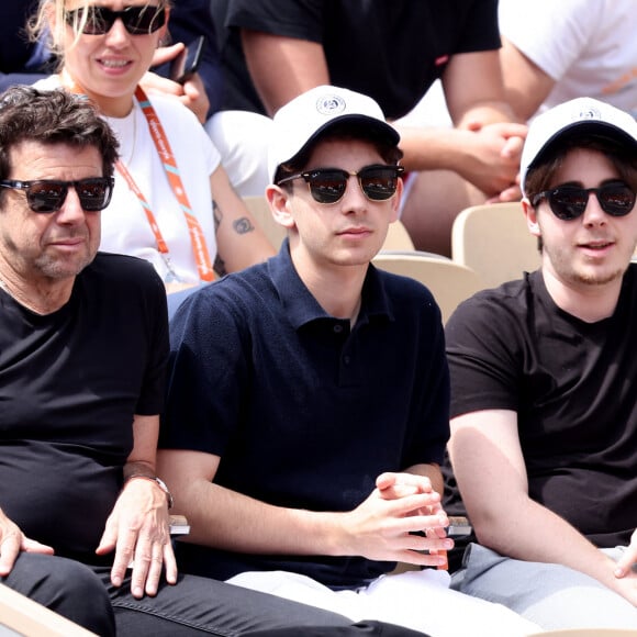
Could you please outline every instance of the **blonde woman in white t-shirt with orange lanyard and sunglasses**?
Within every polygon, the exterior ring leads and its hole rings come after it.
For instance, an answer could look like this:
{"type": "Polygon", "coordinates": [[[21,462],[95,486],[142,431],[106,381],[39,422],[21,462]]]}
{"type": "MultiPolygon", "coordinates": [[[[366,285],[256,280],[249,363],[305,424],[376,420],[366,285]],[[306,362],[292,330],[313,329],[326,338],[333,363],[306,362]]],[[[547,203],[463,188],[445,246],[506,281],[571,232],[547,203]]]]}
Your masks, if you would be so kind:
{"type": "Polygon", "coordinates": [[[261,261],[273,248],[197,118],[138,86],[169,14],[169,0],[41,0],[33,35],[48,34],[62,60],[40,88],[86,94],[120,139],[100,249],[149,260],[174,291],[261,261]]]}

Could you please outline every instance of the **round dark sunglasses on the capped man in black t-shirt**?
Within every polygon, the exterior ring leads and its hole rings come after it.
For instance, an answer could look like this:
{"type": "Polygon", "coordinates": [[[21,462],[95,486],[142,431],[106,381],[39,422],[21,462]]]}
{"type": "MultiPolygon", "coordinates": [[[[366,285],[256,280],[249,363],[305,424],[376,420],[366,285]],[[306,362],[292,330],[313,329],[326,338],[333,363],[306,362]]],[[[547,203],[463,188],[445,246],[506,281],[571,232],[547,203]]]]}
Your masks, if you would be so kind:
{"type": "Polygon", "coordinates": [[[635,206],[635,191],[623,181],[612,181],[600,188],[558,186],[552,190],[538,192],[533,198],[532,204],[536,206],[543,199],[546,199],[558,219],[571,221],[584,213],[592,192],[595,193],[600,208],[612,216],[624,216],[635,206]]]}

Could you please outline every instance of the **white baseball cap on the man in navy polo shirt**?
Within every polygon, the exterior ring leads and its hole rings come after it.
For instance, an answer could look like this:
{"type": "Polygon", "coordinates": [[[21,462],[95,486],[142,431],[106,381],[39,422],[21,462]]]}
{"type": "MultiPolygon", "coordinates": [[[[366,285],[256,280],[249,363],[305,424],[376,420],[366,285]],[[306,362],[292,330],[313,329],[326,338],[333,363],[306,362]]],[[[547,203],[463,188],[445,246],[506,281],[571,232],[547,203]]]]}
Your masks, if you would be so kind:
{"type": "Polygon", "coordinates": [[[365,130],[398,145],[400,135],[384,121],[381,108],[369,97],[333,86],[310,89],[281,107],[273,118],[268,148],[268,175],[275,179],[281,164],[305,149],[336,123],[366,124],[365,130]]]}

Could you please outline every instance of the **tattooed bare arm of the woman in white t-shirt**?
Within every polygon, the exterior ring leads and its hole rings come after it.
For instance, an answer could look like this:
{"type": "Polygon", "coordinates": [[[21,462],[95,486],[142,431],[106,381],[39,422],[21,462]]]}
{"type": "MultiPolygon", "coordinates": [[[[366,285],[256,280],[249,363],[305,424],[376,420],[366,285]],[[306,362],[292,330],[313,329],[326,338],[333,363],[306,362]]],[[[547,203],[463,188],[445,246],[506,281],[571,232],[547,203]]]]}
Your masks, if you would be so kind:
{"type": "Polygon", "coordinates": [[[219,273],[235,272],[275,254],[272,244],[234,191],[222,166],[210,177],[219,273]]]}

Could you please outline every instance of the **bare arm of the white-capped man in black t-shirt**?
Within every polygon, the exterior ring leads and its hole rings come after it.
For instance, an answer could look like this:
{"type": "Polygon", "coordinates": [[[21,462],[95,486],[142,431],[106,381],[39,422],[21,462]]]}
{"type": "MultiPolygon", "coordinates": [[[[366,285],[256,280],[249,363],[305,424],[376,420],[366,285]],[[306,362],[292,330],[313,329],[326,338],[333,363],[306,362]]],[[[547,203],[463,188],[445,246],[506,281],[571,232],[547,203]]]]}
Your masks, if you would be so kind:
{"type": "Polygon", "coordinates": [[[482,544],[515,559],[570,567],[637,604],[637,575],[616,579],[613,560],[528,496],[515,412],[488,410],[454,418],[449,454],[482,544]]]}

